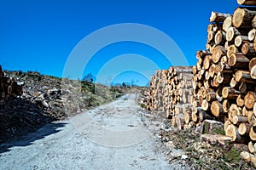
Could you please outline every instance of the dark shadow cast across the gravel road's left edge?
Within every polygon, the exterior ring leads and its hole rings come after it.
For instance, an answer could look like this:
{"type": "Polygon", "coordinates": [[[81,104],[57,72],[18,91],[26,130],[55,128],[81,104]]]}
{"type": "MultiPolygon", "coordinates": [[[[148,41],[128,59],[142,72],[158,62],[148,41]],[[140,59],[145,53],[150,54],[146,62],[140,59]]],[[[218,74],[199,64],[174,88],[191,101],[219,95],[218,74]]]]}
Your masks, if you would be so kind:
{"type": "Polygon", "coordinates": [[[51,122],[49,124],[46,124],[44,127],[39,128],[34,133],[28,133],[25,136],[9,140],[8,142],[5,142],[3,144],[0,143],[0,154],[11,150],[11,148],[14,146],[27,146],[38,139],[44,139],[44,137],[50,134],[58,133],[61,131],[59,128],[65,127],[66,124],[67,123],[63,122],[51,122]]]}

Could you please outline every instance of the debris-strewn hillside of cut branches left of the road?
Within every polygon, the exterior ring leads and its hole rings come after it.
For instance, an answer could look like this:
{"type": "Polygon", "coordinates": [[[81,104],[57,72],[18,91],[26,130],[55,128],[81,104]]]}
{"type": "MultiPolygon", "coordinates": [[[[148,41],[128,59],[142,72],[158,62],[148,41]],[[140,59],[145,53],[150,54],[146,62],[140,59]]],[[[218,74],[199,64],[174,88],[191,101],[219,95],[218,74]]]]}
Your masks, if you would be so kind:
{"type": "Polygon", "coordinates": [[[36,71],[3,71],[3,75],[2,79],[21,84],[23,93],[1,98],[0,142],[108,103],[113,100],[113,94],[122,94],[118,87],[62,80],[36,71]]]}

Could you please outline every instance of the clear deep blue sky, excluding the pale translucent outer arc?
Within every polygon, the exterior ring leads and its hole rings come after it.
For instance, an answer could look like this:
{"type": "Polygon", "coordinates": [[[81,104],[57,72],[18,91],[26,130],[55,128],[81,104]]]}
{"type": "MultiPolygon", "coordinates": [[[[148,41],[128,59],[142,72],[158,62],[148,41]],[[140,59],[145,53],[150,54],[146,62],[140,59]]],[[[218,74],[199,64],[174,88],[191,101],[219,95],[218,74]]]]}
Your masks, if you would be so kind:
{"type": "MultiPolygon", "coordinates": [[[[84,37],[106,26],[137,23],[152,26],[171,37],[188,65],[195,65],[196,50],[205,48],[212,10],[231,14],[237,6],[236,0],[1,1],[0,64],[3,69],[40,71],[62,77],[67,58],[84,37]]],[[[160,69],[170,66],[157,49],[138,42],[117,42],[92,56],[84,74],[91,72],[97,76],[103,65],[123,54],[142,55],[160,69]]],[[[130,64],[143,68],[143,63],[136,60],[130,64]]],[[[153,74],[154,69],[148,66],[143,71],[153,74]]],[[[134,79],[141,85],[145,82],[144,73],[138,72],[137,77],[132,69],[130,76],[128,73],[126,69],[122,77],[122,72],[114,76],[104,71],[113,77],[112,81],[134,79]]]]}

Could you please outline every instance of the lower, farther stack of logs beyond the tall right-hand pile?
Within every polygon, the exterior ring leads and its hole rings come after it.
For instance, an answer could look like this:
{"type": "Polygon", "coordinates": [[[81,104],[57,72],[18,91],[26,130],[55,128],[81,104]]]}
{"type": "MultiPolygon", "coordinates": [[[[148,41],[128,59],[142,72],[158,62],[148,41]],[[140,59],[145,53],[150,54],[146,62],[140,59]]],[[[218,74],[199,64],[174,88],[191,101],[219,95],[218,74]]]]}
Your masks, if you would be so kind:
{"type": "Polygon", "coordinates": [[[172,127],[181,129],[184,125],[183,112],[191,112],[192,79],[192,67],[189,66],[155,71],[150,79],[148,110],[161,111],[167,118],[172,118],[172,127]]]}

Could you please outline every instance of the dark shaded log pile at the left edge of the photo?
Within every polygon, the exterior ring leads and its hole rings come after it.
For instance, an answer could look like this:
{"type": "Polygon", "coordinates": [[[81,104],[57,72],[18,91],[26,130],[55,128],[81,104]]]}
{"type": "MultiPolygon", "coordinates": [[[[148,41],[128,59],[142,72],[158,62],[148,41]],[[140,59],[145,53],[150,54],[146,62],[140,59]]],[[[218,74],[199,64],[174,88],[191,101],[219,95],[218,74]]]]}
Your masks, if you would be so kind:
{"type": "Polygon", "coordinates": [[[9,99],[16,95],[21,95],[23,82],[15,82],[12,78],[4,76],[2,66],[0,65],[0,100],[9,99]]]}

